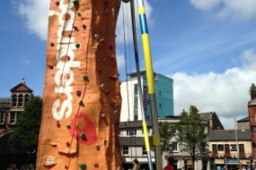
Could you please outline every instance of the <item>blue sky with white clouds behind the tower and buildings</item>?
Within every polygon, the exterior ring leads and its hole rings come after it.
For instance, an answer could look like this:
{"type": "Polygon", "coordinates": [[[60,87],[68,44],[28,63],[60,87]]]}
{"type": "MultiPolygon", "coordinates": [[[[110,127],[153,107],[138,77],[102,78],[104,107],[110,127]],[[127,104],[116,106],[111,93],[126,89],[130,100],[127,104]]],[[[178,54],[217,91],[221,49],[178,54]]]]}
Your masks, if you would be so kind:
{"type": "MultiPolygon", "coordinates": [[[[216,112],[225,129],[234,129],[235,117],[248,115],[249,89],[256,83],[256,1],[144,3],[154,72],[173,80],[174,115],[197,106],[201,113],[216,112]]],[[[136,71],[129,13],[129,4],[122,4],[116,30],[121,81],[126,72],[136,71]]],[[[42,97],[48,16],[49,0],[1,3],[0,98],[10,98],[10,89],[22,76],[34,95],[42,97]]],[[[140,39],[137,20],[139,63],[144,70],[140,39]]]]}

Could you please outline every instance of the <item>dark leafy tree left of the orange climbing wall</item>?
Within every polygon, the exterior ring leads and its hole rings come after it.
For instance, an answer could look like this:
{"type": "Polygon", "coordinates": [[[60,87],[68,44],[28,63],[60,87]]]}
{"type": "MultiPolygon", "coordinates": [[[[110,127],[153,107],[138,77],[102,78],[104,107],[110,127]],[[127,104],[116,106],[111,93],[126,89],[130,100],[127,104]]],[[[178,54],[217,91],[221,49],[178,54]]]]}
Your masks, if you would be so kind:
{"type": "Polygon", "coordinates": [[[42,100],[31,96],[24,111],[18,116],[14,132],[9,141],[17,153],[37,153],[40,123],[42,114],[42,100]]]}

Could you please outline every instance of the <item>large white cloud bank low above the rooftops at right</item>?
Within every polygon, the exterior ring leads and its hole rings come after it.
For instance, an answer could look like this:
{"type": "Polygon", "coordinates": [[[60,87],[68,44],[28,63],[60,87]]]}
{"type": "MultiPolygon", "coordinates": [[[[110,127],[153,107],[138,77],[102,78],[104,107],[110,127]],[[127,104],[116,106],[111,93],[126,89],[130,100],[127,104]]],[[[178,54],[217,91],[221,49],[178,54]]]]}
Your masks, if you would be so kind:
{"type": "Polygon", "coordinates": [[[201,113],[216,112],[226,128],[234,126],[234,115],[248,115],[249,89],[256,82],[256,51],[244,50],[240,56],[242,66],[227,69],[223,73],[207,72],[189,75],[176,72],[173,79],[174,113],[190,105],[197,106],[201,113]],[[228,122],[231,121],[231,122],[228,122]]]}

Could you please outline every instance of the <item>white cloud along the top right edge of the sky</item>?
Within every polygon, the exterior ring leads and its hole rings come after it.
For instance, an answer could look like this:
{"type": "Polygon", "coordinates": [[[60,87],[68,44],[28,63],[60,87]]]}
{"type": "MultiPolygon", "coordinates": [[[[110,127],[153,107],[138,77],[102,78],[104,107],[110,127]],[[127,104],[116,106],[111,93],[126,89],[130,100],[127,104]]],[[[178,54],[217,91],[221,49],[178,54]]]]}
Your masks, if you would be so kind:
{"type": "Polygon", "coordinates": [[[212,11],[220,19],[249,21],[256,18],[255,0],[190,0],[195,8],[212,11]]]}

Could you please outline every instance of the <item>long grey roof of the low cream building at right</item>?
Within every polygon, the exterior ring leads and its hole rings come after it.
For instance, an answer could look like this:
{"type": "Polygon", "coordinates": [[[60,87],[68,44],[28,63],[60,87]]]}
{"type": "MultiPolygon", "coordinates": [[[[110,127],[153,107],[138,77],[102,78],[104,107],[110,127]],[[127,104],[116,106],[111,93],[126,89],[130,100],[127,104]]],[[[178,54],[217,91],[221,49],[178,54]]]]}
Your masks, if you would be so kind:
{"type": "Polygon", "coordinates": [[[236,140],[235,136],[237,136],[237,140],[252,140],[251,139],[251,131],[250,129],[246,130],[216,130],[213,132],[209,132],[209,141],[227,141],[227,140],[236,140]]]}

